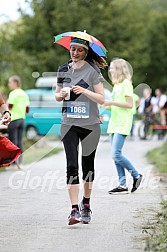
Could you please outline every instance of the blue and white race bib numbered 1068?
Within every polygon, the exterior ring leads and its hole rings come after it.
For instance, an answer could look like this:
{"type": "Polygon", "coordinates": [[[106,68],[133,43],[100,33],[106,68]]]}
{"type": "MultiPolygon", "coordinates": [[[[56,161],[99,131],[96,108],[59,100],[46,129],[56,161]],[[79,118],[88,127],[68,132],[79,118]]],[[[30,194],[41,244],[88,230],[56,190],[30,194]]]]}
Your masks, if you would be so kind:
{"type": "Polygon", "coordinates": [[[89,102],[67,102],[68,118],[89,118],[89,102]]]}

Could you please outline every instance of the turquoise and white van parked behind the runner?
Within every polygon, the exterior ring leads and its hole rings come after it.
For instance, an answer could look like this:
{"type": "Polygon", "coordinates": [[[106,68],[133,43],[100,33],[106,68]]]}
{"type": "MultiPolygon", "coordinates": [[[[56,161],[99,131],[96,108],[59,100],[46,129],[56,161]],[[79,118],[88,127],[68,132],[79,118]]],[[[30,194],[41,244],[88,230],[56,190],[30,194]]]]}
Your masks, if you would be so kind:
{"type": "MultiPolygon", "coordinates": [[[[50,78],[50,77],[49,77],[50,78]]],[[[54,89],[55,90],[55,89],[54,89]]],[[[60,136],[62,102],[57,102],[51,88],[38,88],[26,90],[30,98],[30,111],[26,115],[25,129],[27,138],[32,139],[37,135],[60,136]]],[[[110,99],[110,91],[105,89],[105,96],[110,99]]],[[[107,134],[110,110],[99,107],[101,134],[107,134]]]]}

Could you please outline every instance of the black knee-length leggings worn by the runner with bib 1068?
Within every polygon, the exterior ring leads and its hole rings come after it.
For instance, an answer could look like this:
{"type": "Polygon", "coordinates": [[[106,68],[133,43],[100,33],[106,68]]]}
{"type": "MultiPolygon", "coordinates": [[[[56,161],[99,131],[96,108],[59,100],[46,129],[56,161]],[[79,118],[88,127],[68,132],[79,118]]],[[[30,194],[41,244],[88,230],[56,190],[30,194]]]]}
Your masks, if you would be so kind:
{"type": "Polygon", "coordinates": [[[78,145],[82,145],[83,180],[94,180],[94,159],[100,138],[100,125],[61,126],[61,136],[67,159],[67,184],[79,184],[78,145]]]}

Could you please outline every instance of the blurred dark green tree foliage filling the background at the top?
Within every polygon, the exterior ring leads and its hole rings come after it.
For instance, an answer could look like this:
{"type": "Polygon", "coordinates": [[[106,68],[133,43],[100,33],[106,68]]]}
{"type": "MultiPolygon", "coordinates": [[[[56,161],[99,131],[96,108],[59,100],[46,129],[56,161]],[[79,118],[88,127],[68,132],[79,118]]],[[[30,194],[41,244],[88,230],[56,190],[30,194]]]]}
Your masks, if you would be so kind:
{"type": "MultiPolygon", "coordinates": [[[[53,44],[53,36],[86,30],[115,57],[128,60],[134,85],[146,82],[153,89],[167,88],[167,4],[163,0],[29,0],[32,15],[22,10],[17,22],[0,27],[1,86],[11,74],[33,87],[32,72],[55,72],[69,52],[53,44]],[[7,31],[7,32],[6,32],[7,31]]],[[[107,78],[107,69],[103,72],[107,78]]]]}

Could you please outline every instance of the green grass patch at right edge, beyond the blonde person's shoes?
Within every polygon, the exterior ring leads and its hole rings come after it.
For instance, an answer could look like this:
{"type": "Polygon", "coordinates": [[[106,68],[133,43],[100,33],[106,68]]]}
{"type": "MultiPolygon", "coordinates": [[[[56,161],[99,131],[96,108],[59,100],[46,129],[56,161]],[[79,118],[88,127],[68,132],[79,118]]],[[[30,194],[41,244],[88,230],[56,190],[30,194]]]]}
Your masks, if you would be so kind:
{"type": "Polygon", "coordinates": [[[167,173],[167,142],[163,146],[156,148],[147,153],[147,158],[150,163],[154,164],[159,172],[167,173]]]}

